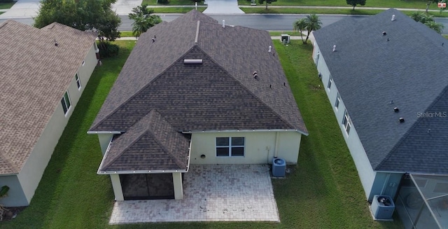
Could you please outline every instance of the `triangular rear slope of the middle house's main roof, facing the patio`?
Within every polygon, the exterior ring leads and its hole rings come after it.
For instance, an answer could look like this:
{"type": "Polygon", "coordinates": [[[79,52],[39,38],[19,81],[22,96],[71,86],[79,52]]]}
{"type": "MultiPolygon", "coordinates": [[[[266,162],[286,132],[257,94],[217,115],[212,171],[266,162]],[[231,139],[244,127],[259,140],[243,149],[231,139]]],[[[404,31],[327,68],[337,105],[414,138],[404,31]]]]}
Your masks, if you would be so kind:
{"type": "Polygon", "coordinates": [[[178,131],[293,128],[198,46],[94,130],[126,131],[151,109],[157,109],[178,131]],[[184,64],[185,59],[200,59],[202,64],[184,64]]]}

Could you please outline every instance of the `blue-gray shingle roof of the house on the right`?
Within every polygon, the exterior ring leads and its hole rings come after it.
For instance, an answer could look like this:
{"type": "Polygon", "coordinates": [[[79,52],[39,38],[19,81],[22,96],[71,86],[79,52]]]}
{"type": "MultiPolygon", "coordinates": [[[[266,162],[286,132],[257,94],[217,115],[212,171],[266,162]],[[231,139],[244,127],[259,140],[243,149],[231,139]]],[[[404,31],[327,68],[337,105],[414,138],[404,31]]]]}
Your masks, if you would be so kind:
{"type": "Polygon", "coordinates": [[[448,111],[447,40],[395,9],[314,37],[374,170],[448,174],[448,118],[418,115],[448,111]]]}

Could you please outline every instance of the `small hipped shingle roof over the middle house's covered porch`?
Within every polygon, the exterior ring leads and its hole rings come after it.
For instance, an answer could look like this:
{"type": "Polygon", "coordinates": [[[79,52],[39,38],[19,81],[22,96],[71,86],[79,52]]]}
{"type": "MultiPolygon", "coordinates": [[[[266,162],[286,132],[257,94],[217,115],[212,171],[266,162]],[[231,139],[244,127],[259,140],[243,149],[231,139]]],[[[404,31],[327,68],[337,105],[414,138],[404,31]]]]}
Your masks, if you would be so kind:
{"type": "Polygon", "coordinates": [[[190,142],[151,110],[113,139],[100,172],[187,169],[190,142]]]}

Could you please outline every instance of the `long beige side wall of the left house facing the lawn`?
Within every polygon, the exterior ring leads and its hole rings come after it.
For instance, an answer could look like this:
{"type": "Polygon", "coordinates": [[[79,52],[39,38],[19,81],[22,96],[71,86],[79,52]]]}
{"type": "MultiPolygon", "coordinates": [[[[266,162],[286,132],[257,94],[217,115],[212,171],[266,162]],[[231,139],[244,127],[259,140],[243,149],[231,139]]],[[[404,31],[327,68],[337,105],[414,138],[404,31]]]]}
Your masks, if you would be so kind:
{"type": "MultiPolygon", "coordinates": [[[[78,86],[76,84],[75,75],[73,74],[72,81],[69,85],[69,97],[71,102],[71,107],[66,114],[64,114],[64,110],[62,109],[62,104],[58,99],[55,102],[56,109],[52,114],[49,122],[45,126],[45,129],[41,133],[41,137],[39,137],[38,141],[34,145],[29,158],[25,162],[25,165],[22,167],[22,170],[18,174],[18,180],[22,186],[23,193],[25,193],[26,201],[28,205],[31,202],[31,198],[34,195],[34,192],[38,186],[39,181],[41,181],[43,171],[45,167],[47,167],[48,162],[50,161],[51,155],[55,150],[55,146],[59,141],[59,138],[64,132],[64,128],[66,124],[69,122],[69,118],[71,113],[78,103],[80,96],[87,85],[87,81],[90,79],[90,75],[94,70],[94,67],[97,64],[96,55],[94,53],[94,47],[92,43],[92,48],[89,50],[88,55],[85,58],[85,64],[82,66],[82,61],[79,63],[80,69],[78,69],[80,81],[82,87],[78,90],[78,86]]],[[[62,93],[62,95],[64,95],[62,93]]],[[[62,97],[61,97],[62,98],[62,97]]],[[[12,206],[24,206],[22,200],[18,200],[16,204],[12,206]]]]}

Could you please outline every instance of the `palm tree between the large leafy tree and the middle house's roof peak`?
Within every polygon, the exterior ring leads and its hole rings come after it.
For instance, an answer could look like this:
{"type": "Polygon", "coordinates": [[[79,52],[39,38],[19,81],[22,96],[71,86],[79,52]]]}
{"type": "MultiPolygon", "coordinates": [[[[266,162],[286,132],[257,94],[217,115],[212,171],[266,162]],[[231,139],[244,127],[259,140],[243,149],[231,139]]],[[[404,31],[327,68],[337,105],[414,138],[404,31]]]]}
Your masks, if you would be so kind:
{"type": "Polygon", "coordinates": [[[132,8],[132,13],[128,15],[131,20],[134,20],[132,23],[132,35],[138,38],[149,28],[162,22],[160,16],[151,15],[153,13],[153,9],[148,9],[146,4],[132,8]]]}

